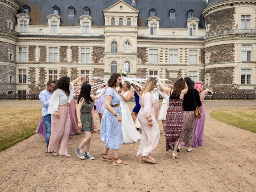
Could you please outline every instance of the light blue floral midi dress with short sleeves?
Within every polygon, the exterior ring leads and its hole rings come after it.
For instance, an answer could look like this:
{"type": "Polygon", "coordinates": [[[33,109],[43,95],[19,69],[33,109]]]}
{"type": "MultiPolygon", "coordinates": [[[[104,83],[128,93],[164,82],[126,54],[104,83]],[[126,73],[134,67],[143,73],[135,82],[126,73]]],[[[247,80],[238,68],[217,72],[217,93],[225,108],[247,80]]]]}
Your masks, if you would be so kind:
{"type": "MultiPolygon", "coordinates": [[[[120,104],[120,96],[116,90],[109,87],[106,90],[106,96],[112,96],[110,105],[120,104]]],[[[114,110],[122,117],[121,107],[114,107],[114,110]]],[[[110,113],[107,109],[104,110],[101,126],[100,138],[105,142],[107,148],[113,150],[119,149],[123,144],[122,122],[117,122],[116,116],[110,113]]]]}

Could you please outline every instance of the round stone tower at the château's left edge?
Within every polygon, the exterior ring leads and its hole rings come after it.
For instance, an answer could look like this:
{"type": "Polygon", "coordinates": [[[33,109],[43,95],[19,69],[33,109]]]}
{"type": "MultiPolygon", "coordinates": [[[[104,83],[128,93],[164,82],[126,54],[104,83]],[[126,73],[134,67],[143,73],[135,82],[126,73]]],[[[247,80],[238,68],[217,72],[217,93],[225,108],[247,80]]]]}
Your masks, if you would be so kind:
{"type": "Polygon", "coordinates": [[[16,14],[13,0],[0,1],[0,93],[16,92],[16,14]]]}

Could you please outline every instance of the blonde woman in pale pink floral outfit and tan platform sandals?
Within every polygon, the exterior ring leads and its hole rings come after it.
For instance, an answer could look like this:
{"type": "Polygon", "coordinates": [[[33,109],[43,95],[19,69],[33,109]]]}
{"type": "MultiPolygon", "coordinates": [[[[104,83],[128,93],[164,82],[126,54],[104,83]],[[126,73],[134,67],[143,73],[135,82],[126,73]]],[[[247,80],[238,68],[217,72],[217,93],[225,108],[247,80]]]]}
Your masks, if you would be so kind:
{"type": "Polygon", "coordinates": [[[156,163],[156,159],[152,156],[152,150],[157,146],[160,138],[158,122],[154,116],[153,105],[155,103],[154,96],[151,93],[156,88],[156,79],[149,78],[140,92],[140,112],[138,120],[142,126],[142,134],[140,147],[137,152],[139,162],[147,161],[156,163]]]}

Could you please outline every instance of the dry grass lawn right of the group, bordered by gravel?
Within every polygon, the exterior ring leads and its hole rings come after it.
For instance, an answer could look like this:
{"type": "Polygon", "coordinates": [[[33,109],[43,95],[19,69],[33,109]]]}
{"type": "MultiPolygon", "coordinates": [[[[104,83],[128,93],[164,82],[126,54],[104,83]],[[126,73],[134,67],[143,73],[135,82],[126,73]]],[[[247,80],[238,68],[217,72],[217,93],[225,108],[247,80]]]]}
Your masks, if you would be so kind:
{"type": "Polygon", "coordinates": [[[256,108],[217,110],[210,115],[226,124],[256,133],[256,108]]]}

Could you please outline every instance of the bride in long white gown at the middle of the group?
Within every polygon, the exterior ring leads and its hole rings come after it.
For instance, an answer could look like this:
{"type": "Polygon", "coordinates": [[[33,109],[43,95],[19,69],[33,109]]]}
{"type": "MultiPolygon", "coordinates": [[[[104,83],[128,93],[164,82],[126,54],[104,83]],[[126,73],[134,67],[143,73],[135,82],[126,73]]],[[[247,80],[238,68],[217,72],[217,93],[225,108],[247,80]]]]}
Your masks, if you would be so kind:
{"type": "Polygon", "coordinates": [[[124,143],[133,143],[140,140],[140,133],[136,130],[130,109],[127,102],[132,98],[131,84],[128,81],[125,81],[123,84],[123,91],[119,93],[121,96],[120,107],[122,111],[122,132],[124,143]]]}

